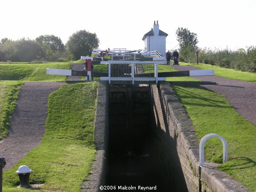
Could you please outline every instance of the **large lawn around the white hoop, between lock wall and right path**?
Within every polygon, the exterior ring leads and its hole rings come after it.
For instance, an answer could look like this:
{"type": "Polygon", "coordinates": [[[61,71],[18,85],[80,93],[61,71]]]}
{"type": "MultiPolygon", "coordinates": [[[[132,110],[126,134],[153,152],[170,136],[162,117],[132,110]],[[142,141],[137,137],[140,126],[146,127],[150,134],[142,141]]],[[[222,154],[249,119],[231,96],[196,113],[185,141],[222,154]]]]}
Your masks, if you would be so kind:
{"type": "MultiPolygon", "coordinates": [[[[234,179],[256,190],[256,126],[241,117],[220,94],[203,87],[173,86],[200,140],[216,133],[228,143],[229,161],[219,168],[234,179]]],[[[205,156],[212,162],[222,163],[222,142],[211,138],[205,146],[205,156]]]]}

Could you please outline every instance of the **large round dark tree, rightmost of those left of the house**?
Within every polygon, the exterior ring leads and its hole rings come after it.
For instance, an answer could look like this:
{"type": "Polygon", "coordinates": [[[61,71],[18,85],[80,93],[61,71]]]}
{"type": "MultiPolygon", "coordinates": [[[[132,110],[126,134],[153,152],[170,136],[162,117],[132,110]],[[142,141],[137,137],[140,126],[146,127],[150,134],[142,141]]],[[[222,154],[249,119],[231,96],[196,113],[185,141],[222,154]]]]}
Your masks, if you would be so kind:
{"type": "Polygon", "coordinates": [[[99,47],[99,39],[95,33],[80,30],[73,33],[66,44],[68,51],[74,54],[75,59],[87,55],[89,50],[99,47]]]}

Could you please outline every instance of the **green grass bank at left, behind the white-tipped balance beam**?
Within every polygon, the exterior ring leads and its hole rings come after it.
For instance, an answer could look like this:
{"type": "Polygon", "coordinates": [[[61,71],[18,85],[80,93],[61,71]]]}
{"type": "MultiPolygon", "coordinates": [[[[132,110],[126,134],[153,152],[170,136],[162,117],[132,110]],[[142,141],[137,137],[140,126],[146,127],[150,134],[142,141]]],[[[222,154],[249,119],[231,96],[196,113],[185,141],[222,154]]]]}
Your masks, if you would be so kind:
{"type": "Polygon", "coordinates": [[[0,64],[0,80],[65,81],[63,75],[47,75],[46,68],[70,69],[69,62],[0,64]]]}

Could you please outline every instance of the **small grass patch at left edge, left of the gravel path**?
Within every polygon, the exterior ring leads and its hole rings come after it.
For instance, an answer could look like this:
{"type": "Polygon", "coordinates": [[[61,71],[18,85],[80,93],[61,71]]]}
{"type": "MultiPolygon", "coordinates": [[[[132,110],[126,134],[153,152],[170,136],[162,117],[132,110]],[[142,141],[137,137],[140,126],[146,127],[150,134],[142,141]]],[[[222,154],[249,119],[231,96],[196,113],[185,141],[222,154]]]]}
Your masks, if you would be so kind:
{"type": "Polygon", "coordinates": [[[22,84],[20,81],[0,81],[0,140],[8,134],[22,84]]]}

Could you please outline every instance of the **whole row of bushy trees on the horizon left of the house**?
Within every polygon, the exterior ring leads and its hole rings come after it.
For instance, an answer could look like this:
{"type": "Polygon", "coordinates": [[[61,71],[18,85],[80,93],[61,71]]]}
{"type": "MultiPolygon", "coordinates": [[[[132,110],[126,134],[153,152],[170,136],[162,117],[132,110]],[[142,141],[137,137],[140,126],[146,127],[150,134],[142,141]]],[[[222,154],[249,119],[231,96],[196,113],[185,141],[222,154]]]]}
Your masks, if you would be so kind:
{"type": "Polygon", "coordinates": [[[0,42],[0,61],[69,61],[80,59],[89,50],[99,47],[95,33],[80,30],[73,33],[66,45],[55,35],[40,35],[36,39],[11,40],[2,38],[0,42]]]}

